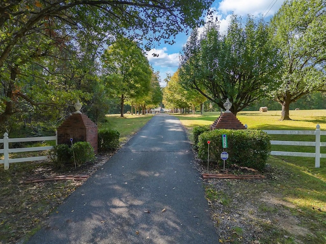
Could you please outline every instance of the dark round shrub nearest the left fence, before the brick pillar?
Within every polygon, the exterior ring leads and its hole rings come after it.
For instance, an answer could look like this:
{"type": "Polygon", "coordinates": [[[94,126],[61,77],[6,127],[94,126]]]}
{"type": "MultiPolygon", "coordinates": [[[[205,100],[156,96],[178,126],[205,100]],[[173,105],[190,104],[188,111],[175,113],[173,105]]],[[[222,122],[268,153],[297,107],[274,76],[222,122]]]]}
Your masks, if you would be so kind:
{"type": "Polygon", "coordinates": [[[67,144],[53,146],[50,151],[51,161],[55,168],[60,169],[65,165],[72,163],[72,151],[67,144]]]}

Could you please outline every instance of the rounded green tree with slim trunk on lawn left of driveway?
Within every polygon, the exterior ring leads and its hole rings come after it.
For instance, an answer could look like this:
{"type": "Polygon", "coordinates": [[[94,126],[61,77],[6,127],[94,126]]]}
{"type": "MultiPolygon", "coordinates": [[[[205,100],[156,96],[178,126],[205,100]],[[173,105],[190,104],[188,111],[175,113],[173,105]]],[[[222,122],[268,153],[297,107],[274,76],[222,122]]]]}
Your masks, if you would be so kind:
{"type": "Polygon", "coordinates": [[[121,38],[102,55],[108,85],[120,97],[121,117],[127,99],[146,96],[149,92],[152,70],[144,52],[133,41],[121,38]]]}

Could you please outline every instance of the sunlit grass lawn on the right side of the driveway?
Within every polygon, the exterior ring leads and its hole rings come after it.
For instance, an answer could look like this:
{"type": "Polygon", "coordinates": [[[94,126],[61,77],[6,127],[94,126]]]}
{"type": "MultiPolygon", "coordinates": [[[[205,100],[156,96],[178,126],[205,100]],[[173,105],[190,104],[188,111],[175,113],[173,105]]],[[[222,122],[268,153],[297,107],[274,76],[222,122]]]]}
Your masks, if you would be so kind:
{"type": "MultiPolygon", "coordinates": [[[[219,115],[220,113],[211,112],[203,115],[177,114],[176,116],[181,120],[192,140],[192,128],[210,125],[219,115]]],[[[280,117],[281,111],[263,113],[246,111],[237,114],[241,123],[247,124],[250,129],[315,130],[316,125],[319,124],[321,130],[326,130],[326,110],[290,111],[292,120],[287,121],[280,121],[280,117]]],[[[271,140],[314,141],[314,136],[306,135],[270,135],[270,137],[271,140]]],[[[321,141],[326,141],[326,136],[321,136],[321,141]]],[[[314,152],[314,147],[273,145],[272,150],[314,152]]],[[[321,148],[321,153],[326,153],[326,148],[321,148]]],[[[268,180],[267,184],[264,182],[264,184],[254,184],[254,186],[246,182],[246,187],[242,191],[250,194],[254,189],[256,194],[253,192],[252,198],[255,198],[258,193],[263,193],[259,195],[257,201],[264,195],[277,196],[276,201],[284,201],[285,205],[288,204],[287,210],[299,220],[298,225],[308,229],[310,233],[306,234],[306,237],[298,233],[295,238],[287,237],[285,240],[283,235],[294,235],[294,230],[293,233],[288,231],[284,234],[275,226],[265,223],[264,228],[272,230],[270,237],[265,236],[257,243],[326,243],[326,159],[320,160],[320,168],[315,168],[314,158],[305,157],[270,156],[267,163],[276,170],[271,175],[275,180],[268,180]],[[296,242],[298,240],[300,242],[296,242]]],[[[229,185],[228,189],[232,189],[232,185],[229,185]]],[[[233,194],[238,194],[237,191],[241,192],[241,186],[237,186],[233,191],[233,194]]],[[[276,206],[277,204],[274,207],[262,204],[258,209],[264,214],[270,212],[270,214],[277,215],[280,208],[276,206]]],[[[281,222],[279,224],[282,225],[281,222]]],[[[301,234],[304,235],[303,232],[301,234]]]]}

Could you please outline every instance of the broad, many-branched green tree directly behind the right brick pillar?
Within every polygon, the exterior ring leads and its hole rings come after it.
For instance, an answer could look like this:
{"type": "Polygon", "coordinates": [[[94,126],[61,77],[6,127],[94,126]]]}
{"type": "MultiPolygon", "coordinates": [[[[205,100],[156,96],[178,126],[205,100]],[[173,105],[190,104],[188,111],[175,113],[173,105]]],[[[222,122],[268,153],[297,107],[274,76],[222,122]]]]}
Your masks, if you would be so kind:
{"type": "Polygon", "coordinates": [[[267,24],[255,23],[251,16],[246,26],[241,22],[233,15],[227,33],[221,34],[219,24],[210,21],[200,38],[195,29],[179,67],[183,86],[198,90],[221,108],[229,98],[234,114],[277,86],[274,80],[281,65],[267,24]]]}

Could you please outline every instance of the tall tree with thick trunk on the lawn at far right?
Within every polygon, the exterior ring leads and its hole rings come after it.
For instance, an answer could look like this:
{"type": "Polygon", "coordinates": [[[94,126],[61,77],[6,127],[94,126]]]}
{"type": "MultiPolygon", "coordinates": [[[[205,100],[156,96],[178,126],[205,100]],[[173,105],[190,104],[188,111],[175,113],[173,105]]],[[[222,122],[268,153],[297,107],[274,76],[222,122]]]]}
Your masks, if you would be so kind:
{"type": "Polygon", "coordinates": [[[284,60],[282,82],[271,97],[282,105],[281,120],[290,119],[290,104],[326,88],[326,5],[322,0],[286,1],[271,20],[284,60]]]}

